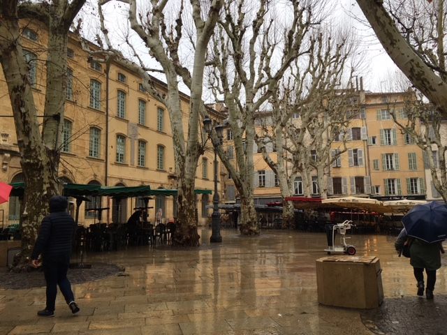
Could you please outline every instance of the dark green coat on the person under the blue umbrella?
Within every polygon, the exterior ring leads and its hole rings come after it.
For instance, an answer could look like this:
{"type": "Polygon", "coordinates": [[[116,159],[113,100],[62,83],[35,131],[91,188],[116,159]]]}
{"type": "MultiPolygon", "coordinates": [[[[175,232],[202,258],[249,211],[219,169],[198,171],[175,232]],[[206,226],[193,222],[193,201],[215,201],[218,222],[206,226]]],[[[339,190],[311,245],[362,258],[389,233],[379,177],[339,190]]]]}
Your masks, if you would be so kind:
{"type": "Polygon", "coordinates": [[[420,239],[413,239],[410,256],[412,267],[437,270],[441,267],[441,242],[430,244],[420,239]]]}

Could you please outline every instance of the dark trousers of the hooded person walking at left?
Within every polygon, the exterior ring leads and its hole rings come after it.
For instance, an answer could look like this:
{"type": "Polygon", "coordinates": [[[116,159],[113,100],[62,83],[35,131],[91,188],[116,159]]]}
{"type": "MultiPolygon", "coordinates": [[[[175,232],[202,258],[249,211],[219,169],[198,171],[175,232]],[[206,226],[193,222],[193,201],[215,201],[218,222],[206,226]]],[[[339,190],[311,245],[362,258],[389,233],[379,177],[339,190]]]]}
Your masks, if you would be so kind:
{"type": "Polygon", "coordinates": [[[71,283],[67,278],[68,265],[70,265],[70,256],[57,256],[53,258],[44,258],[43,274],[47,282],[47,307],[48,311],[54,311],[57,285],[64,295],[65,301],[69,304],[75,300],[71,283]]]}

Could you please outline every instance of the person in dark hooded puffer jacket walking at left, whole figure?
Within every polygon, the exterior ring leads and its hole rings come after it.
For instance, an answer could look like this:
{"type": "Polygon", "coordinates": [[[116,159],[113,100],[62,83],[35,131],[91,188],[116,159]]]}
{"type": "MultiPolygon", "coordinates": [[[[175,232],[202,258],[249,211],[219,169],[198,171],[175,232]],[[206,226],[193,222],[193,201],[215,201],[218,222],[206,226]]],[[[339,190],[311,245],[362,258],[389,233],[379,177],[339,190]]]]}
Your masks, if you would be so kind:
{"type": "Polygon", "coordinates": [[[50,214],[43,218],[41,229],[36,239],[31,265],[43,266],[43,274],[47,283],[45,309],[37,315],[51,318],[54,316],[57,286],[64,295],[71,313],[80,311],[75,302],[71,283],[67,278],[70,265],[71,247],[75,236],[76,223],[66,212],[68,201],[61,195],[54,195],[50,199],[50,214]]]}

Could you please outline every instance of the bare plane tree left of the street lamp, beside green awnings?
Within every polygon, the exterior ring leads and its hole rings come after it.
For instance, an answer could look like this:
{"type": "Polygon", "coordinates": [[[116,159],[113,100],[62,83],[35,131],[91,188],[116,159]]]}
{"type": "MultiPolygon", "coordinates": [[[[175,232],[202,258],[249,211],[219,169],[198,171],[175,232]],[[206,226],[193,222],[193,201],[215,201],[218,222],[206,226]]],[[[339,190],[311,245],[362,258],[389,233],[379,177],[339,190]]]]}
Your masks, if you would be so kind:
{"type": "MultiPolygon", "coordinates": [[[[151,0],[146,12],[138,10],[135,0],[117,0],[127,3],[128,19],[132,31],[142,40],[149,55],[154,57],[166,75],[166,96],[154,89],[154,85],[147,75],[145,88],[163,101],[168,108],[171,128],[173,132],[173,147],[175,155],[175,172],[178,186],[178,223],[179,228],[173,237],[177,245],[198,245],[198,232],[196,222],[196,202],[194,198],[194,186],[198,158],[203,154],[203,145],[200,138],[200,118],[205,115],[203,95],[203,72],[207,64],[207,46],[214,32],[214,27],[219,19],[222,0],[199,1],[191,0],[191,13],[193,19],[193,36],[184,36],[184,1],[179,3],[178,15],[169,20],[167,5],[173,1],[151,0]],[[182,64],[180,45],[186,41],[191,43],[193,50],[192,70],[186,64],[182,64]],[[191,91],[189,103],[188,128],[184,129],[183,112],[180,106],[179,79],[186,84],[191,91]],[[186,140],[186,144],[185,144],[186,140]]],[[[100,0],[99,7],[105,6],[109,0],[100,0]]],[[[102,15],[102,14],[101,14],[102,15]]],[[[107,29],[103,29],[103,33],[107,29]]],[[[135,49],[133,49],[135,50],[135,49]]],[[[138,54],[135,52],[135,57],[138,54]]],[[[142,65],[142,64],[141,64],[142,65]]],[[[142,66],[142,68],[145,68],[142,66]]]]}

